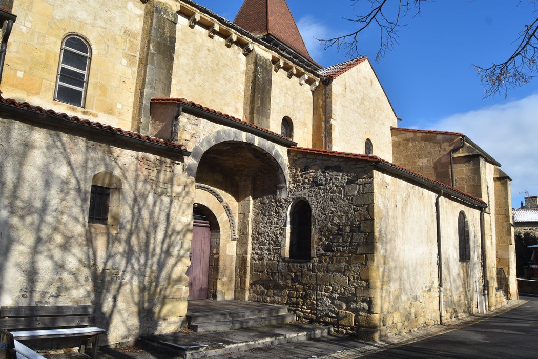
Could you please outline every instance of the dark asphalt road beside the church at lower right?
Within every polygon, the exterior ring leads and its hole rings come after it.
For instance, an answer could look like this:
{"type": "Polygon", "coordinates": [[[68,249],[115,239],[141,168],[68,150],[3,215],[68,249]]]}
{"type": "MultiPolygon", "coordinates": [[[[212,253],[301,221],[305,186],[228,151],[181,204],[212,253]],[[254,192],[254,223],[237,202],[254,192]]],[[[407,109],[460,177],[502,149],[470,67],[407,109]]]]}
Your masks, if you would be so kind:
{"type": "Polygon", "coordinates": [[[538,358],[538,298],[510,312],[366,358],[538,358]]]}

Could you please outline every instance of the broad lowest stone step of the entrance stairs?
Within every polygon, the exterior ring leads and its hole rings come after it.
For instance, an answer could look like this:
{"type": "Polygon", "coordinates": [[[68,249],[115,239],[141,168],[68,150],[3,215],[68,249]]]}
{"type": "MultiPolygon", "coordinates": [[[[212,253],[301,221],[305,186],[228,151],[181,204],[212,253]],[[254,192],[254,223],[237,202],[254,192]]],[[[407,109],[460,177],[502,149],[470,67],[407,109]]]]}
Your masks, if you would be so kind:
{"type": "Polygon", "coordinates": [[[173,333],[144,338],[146,345],[160,347],[184,359],[227,355],[238,351],[274,346],[330,334],[329,327],[289,323],[210,333],[173,333]]]}

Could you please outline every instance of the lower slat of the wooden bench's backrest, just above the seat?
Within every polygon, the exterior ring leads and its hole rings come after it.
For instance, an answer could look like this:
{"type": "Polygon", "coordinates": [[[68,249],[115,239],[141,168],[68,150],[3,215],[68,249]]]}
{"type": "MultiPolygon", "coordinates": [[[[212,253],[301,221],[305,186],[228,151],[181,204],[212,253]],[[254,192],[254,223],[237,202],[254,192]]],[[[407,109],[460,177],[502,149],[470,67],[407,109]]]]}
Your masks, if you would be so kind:
{"type": "Polygon", "coordinates": [[[92,325],[91,316],[42,316],[41,318],[0,319],[2,329],[81,327],[92,325]]]}

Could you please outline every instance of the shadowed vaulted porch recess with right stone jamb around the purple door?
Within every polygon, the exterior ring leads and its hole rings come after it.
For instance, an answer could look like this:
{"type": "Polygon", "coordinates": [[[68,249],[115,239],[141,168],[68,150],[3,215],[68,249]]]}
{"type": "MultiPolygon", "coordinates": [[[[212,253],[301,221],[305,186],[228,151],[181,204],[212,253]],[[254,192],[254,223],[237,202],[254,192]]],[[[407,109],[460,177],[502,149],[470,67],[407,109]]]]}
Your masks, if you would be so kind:
{"type": "MultiPolygon", "coordinates": [[[[287,191],[282,164],[275,156],[282,160],[280,153],[275,155],[252,143],[230,140],[209,147],[196,164],[197,190],[205,188],[221,198],[221,204],[226,202],[230,213],[218,217],[222,223],[237,223],[237,237],[221,241],[216,261],[217,298],[248,299],[252,226],[257,220],[253,218],[253,203],[287,191]]],[[[225,232],[228,226],[223,229],[225,232]]]]}

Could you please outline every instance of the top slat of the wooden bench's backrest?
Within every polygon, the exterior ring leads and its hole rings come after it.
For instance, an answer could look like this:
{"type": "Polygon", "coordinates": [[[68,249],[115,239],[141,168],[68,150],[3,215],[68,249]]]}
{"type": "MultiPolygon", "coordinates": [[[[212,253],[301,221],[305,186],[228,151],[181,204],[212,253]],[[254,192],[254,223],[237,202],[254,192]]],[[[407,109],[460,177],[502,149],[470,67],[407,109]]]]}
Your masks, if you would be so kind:
{"type": "Polygon", "coordinates": [[[95,313],[93,305],[45,305],[0,307],[0,316],[51,316],[51,315],[91,315],[95,313]]]}

